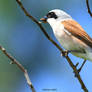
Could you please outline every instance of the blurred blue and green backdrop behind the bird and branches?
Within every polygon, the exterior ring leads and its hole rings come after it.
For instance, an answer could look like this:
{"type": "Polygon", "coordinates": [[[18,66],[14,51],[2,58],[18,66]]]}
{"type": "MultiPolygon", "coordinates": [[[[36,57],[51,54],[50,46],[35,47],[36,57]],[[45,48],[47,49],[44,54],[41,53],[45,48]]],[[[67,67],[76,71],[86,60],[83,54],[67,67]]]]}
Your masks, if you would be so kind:
{"type": "MultiPolygon", "coordinates": [[[[66,11],[92,37],[92,18],[87,13],[85,0],[21,1],[37,20],[55,8],[66,11]]],[[[91,0],[90,7],[92,9],[91,0]]],[[[57,41],[49,24],[43,26],[57,41]]],[[[60,56],[39,27],[24,15],[16,0],[0,0],[0,45],[28,70],[37,92],[83,92],[66,59],[60,56]]],[[[80,62],[81,65],[82,59],[69,56],[73,63],[80,62]]],[[[0,51],[0,92],[31,92],[23,73],[9,62],[0,51]]],[[[92,62],[86,62],[80,74],[89,92],[92,92],[92,62]]]]}

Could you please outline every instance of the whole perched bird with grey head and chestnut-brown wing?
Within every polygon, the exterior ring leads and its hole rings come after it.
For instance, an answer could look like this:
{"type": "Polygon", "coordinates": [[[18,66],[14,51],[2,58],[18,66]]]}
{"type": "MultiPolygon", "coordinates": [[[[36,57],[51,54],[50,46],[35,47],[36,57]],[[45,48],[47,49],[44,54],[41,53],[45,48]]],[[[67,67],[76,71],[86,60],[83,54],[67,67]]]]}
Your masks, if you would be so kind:
{"type": "Polygon", "coordinates": [[[60,44],[73,55],[92,61],[92,38],[62,10],[54,9],[41,18],[48,22],[60,44]]]}

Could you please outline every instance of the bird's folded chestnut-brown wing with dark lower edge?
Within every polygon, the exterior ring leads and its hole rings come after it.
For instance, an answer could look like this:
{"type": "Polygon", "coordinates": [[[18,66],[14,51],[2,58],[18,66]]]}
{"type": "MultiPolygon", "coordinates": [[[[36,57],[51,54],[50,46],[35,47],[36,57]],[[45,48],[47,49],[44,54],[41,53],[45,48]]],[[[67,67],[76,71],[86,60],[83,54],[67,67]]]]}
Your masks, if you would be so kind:
{"type": "Polygon", "coordinates": [[[62,22],[64,28],[73,36],[82,40],[85,44],[92,48],[92,38],[84,31],[84,29],[74,20],[65,20],[62,22]]]}

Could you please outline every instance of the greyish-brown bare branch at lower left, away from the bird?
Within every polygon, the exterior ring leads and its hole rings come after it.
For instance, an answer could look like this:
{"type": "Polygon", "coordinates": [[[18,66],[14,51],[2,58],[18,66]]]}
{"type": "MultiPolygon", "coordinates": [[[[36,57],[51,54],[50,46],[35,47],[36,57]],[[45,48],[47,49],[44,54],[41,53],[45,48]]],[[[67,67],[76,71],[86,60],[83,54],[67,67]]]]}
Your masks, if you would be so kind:
{"type": "Polygon", "coordinates": [[[27,70],[14,57],[12,57],[9,53],[7,53],[5,48],[0,46],[0,50],[11,60],[11,64],[16,64],[18,66],[18,68],[24,73],[24,76],[25,76],[25,79],[27,81],[27,84],[31,88],[32,92],[36,92],[34,87],[33,87],[33,85],[32,85],[32,82],[31,82],[31,80],[29,78],[27,70]]]}

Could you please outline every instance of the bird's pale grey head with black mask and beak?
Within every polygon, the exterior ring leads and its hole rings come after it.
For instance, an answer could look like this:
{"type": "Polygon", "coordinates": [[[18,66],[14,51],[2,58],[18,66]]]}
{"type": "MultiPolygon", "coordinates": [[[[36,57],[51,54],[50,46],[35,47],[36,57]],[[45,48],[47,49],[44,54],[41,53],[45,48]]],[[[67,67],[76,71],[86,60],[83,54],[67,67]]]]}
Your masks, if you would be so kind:
{"type": "Polygon", "coordinates": [[[44,18],[41,18],[41,20],[45,23],[49,23],[50,21],[62,21],[66,19],[72,18],[70,15],[59,9],[51,10],[48,12],[48,14],[46,14],[46,16],[44,16],[44,18]]]}

